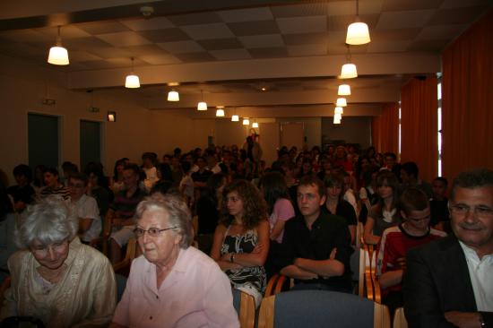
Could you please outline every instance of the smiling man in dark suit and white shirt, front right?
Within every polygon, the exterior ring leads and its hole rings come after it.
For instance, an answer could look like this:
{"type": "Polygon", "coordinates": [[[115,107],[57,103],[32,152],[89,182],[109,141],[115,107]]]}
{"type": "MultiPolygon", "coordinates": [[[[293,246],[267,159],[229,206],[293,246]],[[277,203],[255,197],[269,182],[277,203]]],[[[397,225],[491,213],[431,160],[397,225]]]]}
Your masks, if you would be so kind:
{"type": "Polygon", "coordinates": [[[410,327],[493,327],[493,171],[459,174],[449,210],[455,236],[407,255],[406,318],[410,327]]]}

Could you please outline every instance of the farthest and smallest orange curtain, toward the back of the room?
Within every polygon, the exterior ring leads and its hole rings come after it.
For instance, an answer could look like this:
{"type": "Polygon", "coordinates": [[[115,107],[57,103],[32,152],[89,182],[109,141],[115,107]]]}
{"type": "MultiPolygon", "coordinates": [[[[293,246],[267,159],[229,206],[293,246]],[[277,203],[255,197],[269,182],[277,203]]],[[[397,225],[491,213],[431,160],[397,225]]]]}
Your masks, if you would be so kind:
{"type": "Polygon", "coordinates": [[[382,108],[379,117],[373,117],[371,123],[373,146],[378,152],[399,151],[399,104],[389,103],[382,108]]]}

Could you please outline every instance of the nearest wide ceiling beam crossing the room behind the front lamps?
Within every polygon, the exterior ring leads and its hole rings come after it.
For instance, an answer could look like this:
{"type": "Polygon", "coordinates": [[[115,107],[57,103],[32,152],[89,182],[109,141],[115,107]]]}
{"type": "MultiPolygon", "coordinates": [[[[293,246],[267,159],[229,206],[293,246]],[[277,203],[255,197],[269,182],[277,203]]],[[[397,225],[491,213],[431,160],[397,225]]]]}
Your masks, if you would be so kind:
{"type": "MultiPolygon", "coordinates": [[[[248,79],[299,77],[335,77],[340,73],[345,56],[312,56],[272,58],[181,65],[134,67],[141,84],[156,85],[169,82],[221,82],[248,79]]],[[[352,56],[360,75],[408,73],[437,73],[438,54],[364,54],[352,56]]],[[[129,68],[69,72],[70,89],[122,87],[129,68]]]]}

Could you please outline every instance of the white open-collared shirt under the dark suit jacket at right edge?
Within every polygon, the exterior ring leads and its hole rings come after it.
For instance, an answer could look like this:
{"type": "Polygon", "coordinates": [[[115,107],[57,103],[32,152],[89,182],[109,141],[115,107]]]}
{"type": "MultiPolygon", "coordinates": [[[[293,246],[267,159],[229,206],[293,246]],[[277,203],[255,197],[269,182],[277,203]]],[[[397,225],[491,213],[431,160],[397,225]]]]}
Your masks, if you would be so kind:
{"type": "Polygon", "coordinates": [[[459,240],[459,244],[463,247],[467,268],[471,277],[472,290],[474,298],[476,298],[476,306],[478,311],[492,312],[493,311],[493,254],[484,255],[483,258],[476,254],[476,251],[471,247],[463,244],[459,240]]]}

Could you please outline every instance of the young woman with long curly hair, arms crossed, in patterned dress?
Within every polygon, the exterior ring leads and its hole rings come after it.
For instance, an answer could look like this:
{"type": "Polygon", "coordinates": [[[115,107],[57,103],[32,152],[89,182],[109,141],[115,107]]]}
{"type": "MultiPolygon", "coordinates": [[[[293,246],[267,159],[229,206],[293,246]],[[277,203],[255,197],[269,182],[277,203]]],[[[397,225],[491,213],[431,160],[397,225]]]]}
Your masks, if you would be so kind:
{"type": "Polygon", "coordinates": [[[214,232],[211,257],[234,288],[255,298],[259,306],[269,253],[267,206],[260,191],[246,180],[237,180],[222,192],[221,217],[214,232]]]}

